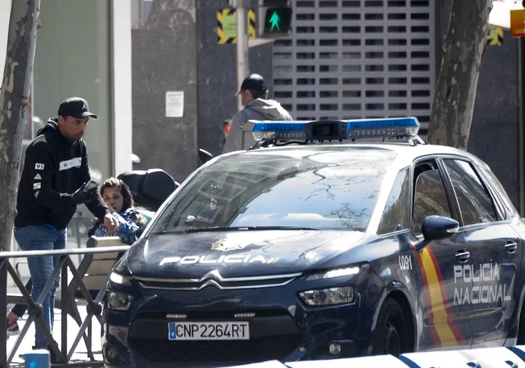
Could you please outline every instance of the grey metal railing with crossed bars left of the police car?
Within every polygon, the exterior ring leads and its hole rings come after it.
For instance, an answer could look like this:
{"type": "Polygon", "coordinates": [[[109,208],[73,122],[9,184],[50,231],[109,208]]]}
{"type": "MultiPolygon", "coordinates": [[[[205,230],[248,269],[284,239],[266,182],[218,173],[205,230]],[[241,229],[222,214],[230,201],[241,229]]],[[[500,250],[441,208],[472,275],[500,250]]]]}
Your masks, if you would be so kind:
{"type": "MultiPolygon", "coordinates": [[[[105,253],[116,253],[118,256],[115,259],[115,262],[122,256],[122,254],[129,249],[130,245],[118,245],[113,247],[96,247],[96,242],[94,247],[87,247],[82,249],[63,249],[63,250],[51,250],[51,251],[28,251],[28,252],[0,252],[0,315],[7,315],[7,305],[8,304],[26,304],[28,306],[28,319],[24,324],[24,327],[21,328],[20,335],[18,336],[15,345],[12,347],[11,351],[8,353],[6,341],[7,333],[0,333],[0,367],[8,368],[12,362],[12,359],[17,353],[22,340],[26,336],[26,333],[30,325],[35,322],[41,326],[47,336],[48,344],[57,357],[58,364],[60,367],[79,367],[89,365],[90,367],[96,367],[97,365],[103,365],[103,362],[96,361],[91,349],[91,320],[93,317],[96,317],[99,322],[102,319],[102,308],[100,306],[101,301],[105,296],[107,281],[109,280],[109,274],[105,278],[105,282],[102,283],[102,286],[98,290],[98,293],[95,298],[91,297],[91,293],[84,284],[82,278],[84,277],[84,272],[89,269],[89,266],[94,261],[95,254],[105,254],[105,253]],[[9,262],[10,259],[17,258],[30,258],[38,256],[60,256],[57,265],[55,266],[51,277],[46,282],[42,293],[39,298],[34,301],[24,283],[19,278],[19,275],[15,268],[9,262]],[[78,267],[73,263],[71,256],[84,256],[80,265],[78,267]],[[73,275],[73,280],[71,283],[68,281],[68,270],[73,275]],[[60,311],[62,315],[62,331],[61,331],[61,344],[60,348],[57,342],[54,340],[53,335],[48,330],[44,324],[44,319],[42,318],[42,302],[46,297],[46,294],[53,287],[53,283],[61,272],[61,290],[60,290],[60,311]],[[21,295],[10,295],[8,294],[8,274],[12,277],[13,281],[17,288],[20,290],[21,295]],[[75,292],[80,289],[82,296],[87,302],[87,317],[82,321],[80,314],[78,313],[78,308],[75,304],[75,292]],[[2,314],[3,313],[3,314],[2,314]],[[67,316],[72,315],[75,318],[75,322],[80,326],[80,330],[75,336],[75,340],[71,349],[68,351],[68,328],[67,328],[67,316]],[[80,323],[81,322],[81,323],[80,323]],[[89,327],[89,333],[86,335],[84,331],[89,327]],[[89,356],[89,361],[85,362],[75,362],[71,363],[71,357],[75,352],[80,339],[83,338],[87,348],[87,355],[89,356]]],[[[51,306],[53,308],[54,306],[51,306]]],[[[34,338],[34,336],[31,336],[34,338]]]]}

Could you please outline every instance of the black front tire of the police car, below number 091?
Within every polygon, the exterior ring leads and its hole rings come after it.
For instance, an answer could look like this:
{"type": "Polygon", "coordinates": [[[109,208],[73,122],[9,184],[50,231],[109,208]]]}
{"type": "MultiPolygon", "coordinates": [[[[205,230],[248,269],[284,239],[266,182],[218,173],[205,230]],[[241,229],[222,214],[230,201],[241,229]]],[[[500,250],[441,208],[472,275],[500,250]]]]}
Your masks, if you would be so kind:
{"type": "Polygon", "coordinates": [[[403,310],[397,301],[387,297],[377,317],[372,355],[391,354],[397,357],[410,350],[409,331],[403,310]]]}

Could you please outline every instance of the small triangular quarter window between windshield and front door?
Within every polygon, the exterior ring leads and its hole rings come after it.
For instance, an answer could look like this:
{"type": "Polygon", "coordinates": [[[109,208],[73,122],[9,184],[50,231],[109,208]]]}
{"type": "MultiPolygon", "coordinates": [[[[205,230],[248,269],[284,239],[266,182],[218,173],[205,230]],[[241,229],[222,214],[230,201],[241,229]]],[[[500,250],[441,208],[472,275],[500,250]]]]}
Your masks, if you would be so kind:
{"type": "Polygon", "coordinates": [[[389,199],[386,200],[377,234],[389,234],[409,228],[409,170],[401,170],[395,177],[389,199]]]}

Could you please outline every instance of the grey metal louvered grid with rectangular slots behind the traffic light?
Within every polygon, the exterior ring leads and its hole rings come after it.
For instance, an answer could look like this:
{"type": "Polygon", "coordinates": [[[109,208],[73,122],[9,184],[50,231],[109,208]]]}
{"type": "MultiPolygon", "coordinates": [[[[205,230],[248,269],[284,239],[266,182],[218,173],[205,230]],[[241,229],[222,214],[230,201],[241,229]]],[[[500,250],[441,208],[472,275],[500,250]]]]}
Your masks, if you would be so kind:
{"type": "Polygon", "coordinates": [[[434,85],[431,0],[296,0],[293,33],[274,43],[274,98],[294,119],[417,116],[434,85]]]}

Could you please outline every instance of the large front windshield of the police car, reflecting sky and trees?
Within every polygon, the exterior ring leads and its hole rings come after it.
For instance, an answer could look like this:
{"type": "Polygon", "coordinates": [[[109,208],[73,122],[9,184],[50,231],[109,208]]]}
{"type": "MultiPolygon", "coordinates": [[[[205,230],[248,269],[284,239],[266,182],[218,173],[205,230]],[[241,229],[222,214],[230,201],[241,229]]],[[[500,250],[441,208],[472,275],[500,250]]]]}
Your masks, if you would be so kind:
{"type": "Polygon", "coordinates": [[[230,227],[364,231],[395,155],[379,148],[312,147],[224,157],[179,191],[151,232],[230,227]]]}

